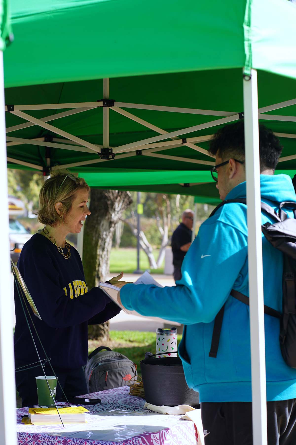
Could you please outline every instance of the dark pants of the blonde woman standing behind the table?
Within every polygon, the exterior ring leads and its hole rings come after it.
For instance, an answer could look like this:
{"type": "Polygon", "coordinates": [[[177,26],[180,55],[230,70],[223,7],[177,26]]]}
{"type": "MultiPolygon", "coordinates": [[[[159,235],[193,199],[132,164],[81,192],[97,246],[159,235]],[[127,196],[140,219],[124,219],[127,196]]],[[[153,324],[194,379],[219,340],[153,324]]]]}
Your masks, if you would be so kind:
{"type": "MultiPolygon", "coordinates": [[[[46,366],[44,370],[47,376],[53,375],[50,367],[46,366]]],[[[66,396],[74,397],[87,394],[87,383],[82,368],[54,368],[54,370],[56,376],[59,377],[58,381],[61,384],[66,396]]],[[[22,399],[22,406],[33,406],[38,404],[36,376],[43,376],[41,366],[38,368],[28,369],[27,371],[16,372],[16,389],[22,399]]],[[[59,400],[63,397],[63,392],[59,386],[59,383],[56,387],[55,400],[59,400]]]]}

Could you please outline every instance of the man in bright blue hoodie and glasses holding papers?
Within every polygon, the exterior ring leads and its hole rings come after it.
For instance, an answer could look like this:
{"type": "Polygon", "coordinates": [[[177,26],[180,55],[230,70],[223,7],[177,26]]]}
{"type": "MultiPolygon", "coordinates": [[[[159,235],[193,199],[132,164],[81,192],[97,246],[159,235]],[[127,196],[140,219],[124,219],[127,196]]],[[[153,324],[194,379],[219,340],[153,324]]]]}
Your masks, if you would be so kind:
{"type": "MultiPolygon", "coordinates": [[[[296,202],[291,179],[273,175],[281,146],[272,131],[259,126],[261,200],[278,210],[279,202],[296,202]]],[[[222,200],[245,198],[244,123],[220,129],[210,143],[212,168],[222,200]]],[[[174,287],[126,284],[123,306],[142,315],[185,324],[178,348],[187,384],[199,392],[206,445],[251,445],[252,389],[249,306],[234,299],[232,289],[249,296],[246,206],[221,206],[200,227],[174,287]],[[162,304],[159,304],[162,301],[162,304]],[[182,302],[182,304],[180,304],[182,302]],[[225,304],[217,358],[209,356],[214,320],[225,304]]],[[[293,217],[293,213],[287,210],[293,217]]],[[[262,224],[271,222],[262,213],[262,224]]],[[[282,253],[262,235],[264,303],[282,312],[282,253]]],[[[268,445],[296,444],[296,369],[280,352],[280,320],[264,315],[268,445]]]]}

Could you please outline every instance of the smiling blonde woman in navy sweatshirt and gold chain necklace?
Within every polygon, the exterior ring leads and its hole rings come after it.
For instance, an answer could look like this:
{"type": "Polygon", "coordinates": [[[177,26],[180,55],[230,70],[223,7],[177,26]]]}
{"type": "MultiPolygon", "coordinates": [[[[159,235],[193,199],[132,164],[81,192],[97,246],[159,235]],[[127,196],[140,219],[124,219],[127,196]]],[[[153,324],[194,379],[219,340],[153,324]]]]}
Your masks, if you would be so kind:
{"type": "MultiPolygon", "coordinates": [[[[103,323],[120,311],[98,287],[87,288],[79,253],[66,241],[69,233],[81,231],[91,213],[88,192],[83,178],[67,172],[51,174],[39,194],[38,218],[44,227],[25,243],[17,263],[42,319],[31,312],[36,330],[67,396],[87,393],[82,369],[88,354],[87,324],[103,323]]],[[[121,277],[118,275],[111,283],[121,277]]],[[[15,307],[15,361],[19,368],[38,358],[16,288],[15,307]]],[[[43,350],[30,320],[29,323],[42,360],[43,350]]],[[[52,373],[48,364],[45,372],[52,373]]],[[[38,403],[35,377],[42,374],[40,366],[16,372],[22,406],[38,403]]],[[[56,399],[60,397],[58,385],[56,399]]]]}

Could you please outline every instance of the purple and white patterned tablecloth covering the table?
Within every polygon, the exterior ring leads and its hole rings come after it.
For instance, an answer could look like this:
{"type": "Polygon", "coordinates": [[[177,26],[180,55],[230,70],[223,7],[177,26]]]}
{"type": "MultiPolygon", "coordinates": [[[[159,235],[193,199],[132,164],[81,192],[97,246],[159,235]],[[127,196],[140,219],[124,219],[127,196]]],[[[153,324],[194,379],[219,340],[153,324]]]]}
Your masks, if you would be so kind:
{"type": "Polygon", "coordinates": [[[86,406],[87,424],[36,426],[22,423],[28,408],[17,409],[19,445],[197,445],[197,429],[180,416],[144,409],[144,399],[129,395],[129,387],[94,392],[98,405],[86,406]],[[115,421],[111,427],[110,421],[115,421]],[[109,422],[109,423],[108,423],[109,422]],[[134,425],[135,424],[135,425],[134,425]],[[81,426],[83,425],[83,427],[81,426]],[[105,425],[107,425],[105,427],[105,425]],[[106,440],[108,435],[115,440],[106,440]],[[106,435],[107,434],[107,435],[106,435]],[[91,437],[94,437],[93,439],[91,437]],[[102,440],[100,440],[102,437],[102,440]],[[106,437],[104,439],[104,437],[106,437]]]}

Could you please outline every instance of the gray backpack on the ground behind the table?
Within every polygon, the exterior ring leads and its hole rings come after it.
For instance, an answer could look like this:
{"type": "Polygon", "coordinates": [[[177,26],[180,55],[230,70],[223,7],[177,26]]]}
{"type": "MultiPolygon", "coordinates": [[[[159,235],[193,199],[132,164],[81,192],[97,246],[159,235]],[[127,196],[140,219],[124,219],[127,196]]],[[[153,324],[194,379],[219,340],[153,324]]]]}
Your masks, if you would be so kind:
{"type": "Polygon", "coordinates": [[[84,373],[88,392],[98,392],[126,386],[133,376],[137,376],[137,365],[120,352],[100,346],[88,356],[84,373]]]}

